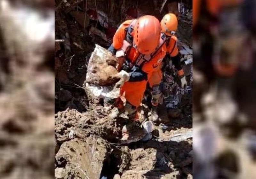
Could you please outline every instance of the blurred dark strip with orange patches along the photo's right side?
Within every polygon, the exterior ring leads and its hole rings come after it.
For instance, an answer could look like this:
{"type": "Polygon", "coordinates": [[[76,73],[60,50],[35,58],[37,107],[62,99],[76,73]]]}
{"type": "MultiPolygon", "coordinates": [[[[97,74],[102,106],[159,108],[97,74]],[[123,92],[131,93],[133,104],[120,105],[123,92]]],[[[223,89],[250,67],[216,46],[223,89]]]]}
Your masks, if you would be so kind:
{"type": "Polygon", "coordinates": [[[256,1],[193,0],[193,176],[256,176],[256,1]]]}

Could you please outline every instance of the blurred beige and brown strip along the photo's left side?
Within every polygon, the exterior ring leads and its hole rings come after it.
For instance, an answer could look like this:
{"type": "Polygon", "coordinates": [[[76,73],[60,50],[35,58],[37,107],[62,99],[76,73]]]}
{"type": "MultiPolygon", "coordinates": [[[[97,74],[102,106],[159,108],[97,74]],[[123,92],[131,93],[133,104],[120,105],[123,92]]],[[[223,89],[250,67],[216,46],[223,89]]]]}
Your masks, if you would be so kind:
{"type": "Polygon", "coordinates": [[[54,177],[54,1],[0,0],[0,178],[54,177]]]}

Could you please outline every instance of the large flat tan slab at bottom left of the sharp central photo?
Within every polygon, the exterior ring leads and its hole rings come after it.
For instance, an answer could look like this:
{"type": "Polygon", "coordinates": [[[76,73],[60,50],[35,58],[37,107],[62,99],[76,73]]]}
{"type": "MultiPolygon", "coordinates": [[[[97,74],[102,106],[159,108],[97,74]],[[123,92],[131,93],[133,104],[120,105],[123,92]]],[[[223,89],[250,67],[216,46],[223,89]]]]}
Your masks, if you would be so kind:
{"type": "MultiPolygon", "coordinates": [[[[72,139],[64,142],[55,156],[58,167],[65,167],[68,177],[81,177],[90,179],[100,178],[103,162],[107,155],[106,142],[87,137],[85,141],[72,139]]],[[[55,173],[62,177],[63,171],[55,169],[55,173]]]]}

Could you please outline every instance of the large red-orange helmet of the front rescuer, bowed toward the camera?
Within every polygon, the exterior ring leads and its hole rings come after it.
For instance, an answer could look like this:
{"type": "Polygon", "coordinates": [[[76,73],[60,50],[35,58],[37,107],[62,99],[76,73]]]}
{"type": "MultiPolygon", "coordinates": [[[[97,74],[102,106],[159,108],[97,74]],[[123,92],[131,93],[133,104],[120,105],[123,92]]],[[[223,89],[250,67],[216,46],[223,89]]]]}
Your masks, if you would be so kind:
{"type": "Polygon", "coordinates": [[[142,54],[152,53],[160,39],[160,23],[154,16],[140,17],[134,27],[133,45],[142,54]]]}

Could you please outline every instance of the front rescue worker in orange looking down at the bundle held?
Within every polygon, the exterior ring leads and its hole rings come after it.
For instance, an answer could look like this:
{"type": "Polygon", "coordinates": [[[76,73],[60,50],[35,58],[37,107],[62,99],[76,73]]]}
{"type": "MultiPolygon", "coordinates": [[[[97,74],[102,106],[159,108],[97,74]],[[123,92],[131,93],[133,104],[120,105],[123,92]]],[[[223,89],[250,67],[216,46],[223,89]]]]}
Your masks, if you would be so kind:
{"type": "Polygon", "coordinates": [[[128,112],[129,121],[122,129],[123,139],[129,137],[133,128],[140,126],[138,107],[148,79],[165,56],[166,47],[160,38],[160,32],[160,22],[154,16],[146,15],[139,19],[126,20],[117,29],[113,43],[108,49],[118,57],[117,69],[121,71],[117,76],[121,80],[116,86],[121,87],[120,96],[124,94],[126,104],[124,106],[120,97],[104,100],[117,108],[112,111],[112,117],[119,116],[125,110],[128,112]]]}

